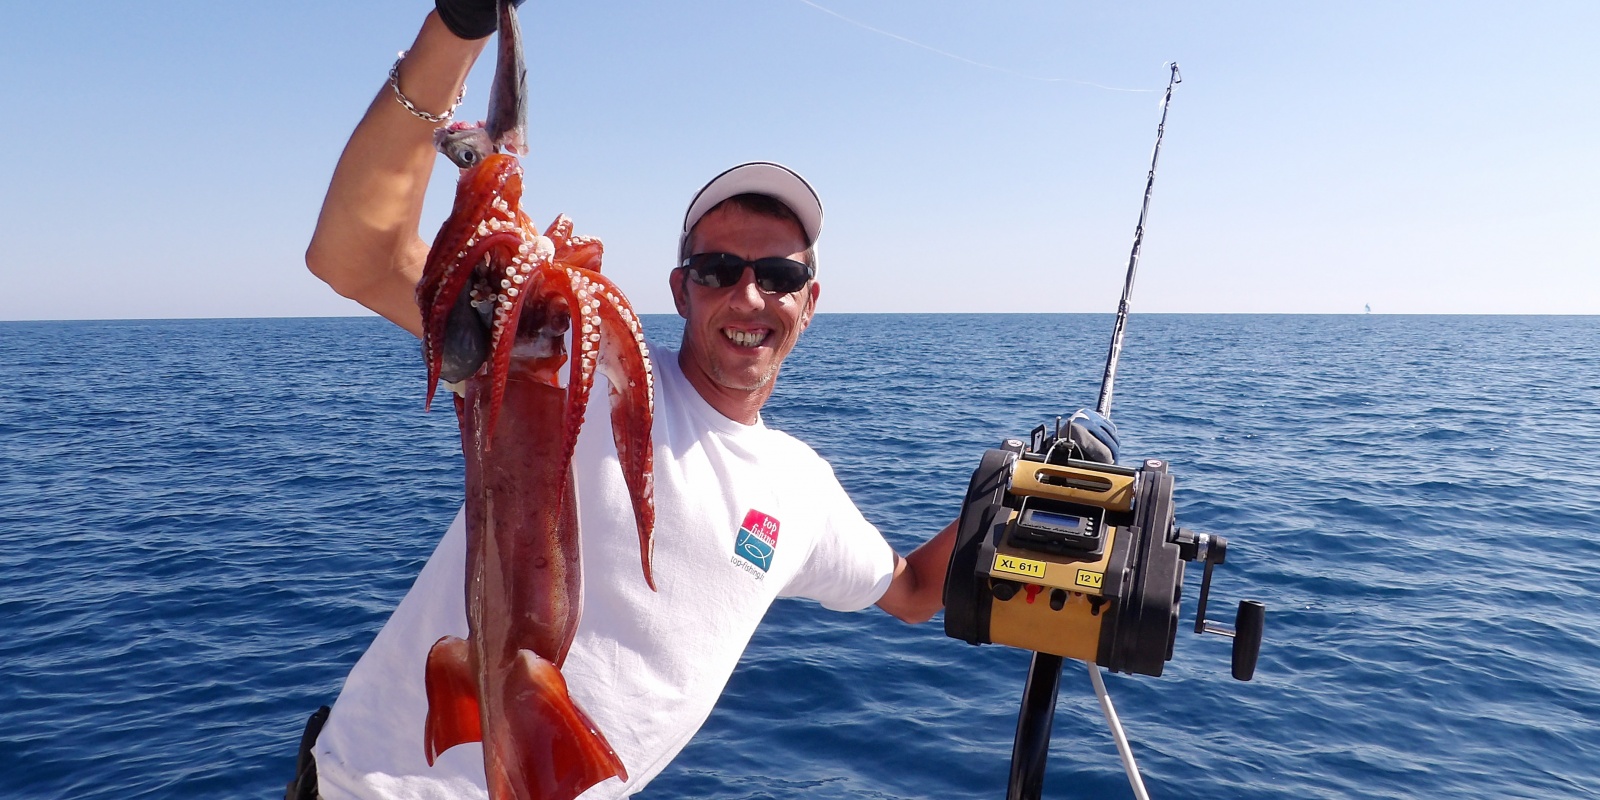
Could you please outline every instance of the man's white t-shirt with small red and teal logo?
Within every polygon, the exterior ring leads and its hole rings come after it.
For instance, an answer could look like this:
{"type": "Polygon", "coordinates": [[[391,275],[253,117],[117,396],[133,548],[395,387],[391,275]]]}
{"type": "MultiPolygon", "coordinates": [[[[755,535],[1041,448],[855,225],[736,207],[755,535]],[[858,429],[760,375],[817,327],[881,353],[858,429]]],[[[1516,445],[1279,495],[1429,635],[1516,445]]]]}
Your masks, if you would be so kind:
{"type": "MultiPolygon", "coordinates": [[[[706,722],[776,597],[854,611],[883,597],[894,568],[893,549],[821,456],[760,421],[722,416],[683,378],[677,354],[651,354],[659,592],[640,568],[603,379],[573,459],[584,613],[562,674],[629,774],[584,800],[630,795],[667,766],[706,722]]],[[[422,754],[427,651],[443,635],[467,635],[464,562],[458,514],[350,670],[317,739],[326,800],[486,797],[480,744],[456,746],[434,766],[422,754]]]]}

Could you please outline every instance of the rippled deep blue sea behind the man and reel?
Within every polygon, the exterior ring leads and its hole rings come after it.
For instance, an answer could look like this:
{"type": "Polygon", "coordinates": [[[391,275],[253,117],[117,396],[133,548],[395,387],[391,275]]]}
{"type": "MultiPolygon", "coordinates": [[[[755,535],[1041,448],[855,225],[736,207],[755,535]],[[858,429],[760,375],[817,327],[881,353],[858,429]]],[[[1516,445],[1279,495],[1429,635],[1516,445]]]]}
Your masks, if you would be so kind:
{"type": "MultiPolygon", "coordinates": [[[[765,416],[904,552],[1109,334],[822,315],[765,416]]],[[[280,797],[461,502],[422,382],[376,318],[0,323],[0,797],[280,797]]],[[[1134,314],[1114,418],[1267,606],[1235,682],[1190,570],[1165,675],[1107,675],[1152,797],[1600,797],[1600,317],[1134,314]]],[[[998,798],[1026,672],[779,602],[642,797],[998,798]]],[[[1131,797],[1078,662],[1045,797],[1131,797]]]]}

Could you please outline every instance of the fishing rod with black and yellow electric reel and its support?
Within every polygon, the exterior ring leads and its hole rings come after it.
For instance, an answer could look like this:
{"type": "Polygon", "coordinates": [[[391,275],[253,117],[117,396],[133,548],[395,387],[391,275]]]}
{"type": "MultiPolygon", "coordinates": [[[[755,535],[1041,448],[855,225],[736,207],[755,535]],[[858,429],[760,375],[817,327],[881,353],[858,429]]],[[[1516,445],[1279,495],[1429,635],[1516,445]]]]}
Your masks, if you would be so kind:
{"type": "MultiPolygon", "coordinates": [[[[1162,98],[1144,203],[1133,234],[1128,277],[1112,328],[1096,410],[1110,418],[1112,390],[1128,322],[1128,299],[1144,245],[1144,222],[1166,131],[1178,64],[1162,98]]],[[[944,590],[944,632],[971,645],[1034,651],[1011,749],[1008,800],[1038,800],[1050,755],[1061,667],[1088,666],[1123,770],[1147,800],[1133,750],[1101,680],[1114,672],[1162,675],[1173,658],[1184,563],[1203,562],[1197,634],[1234,638],[1232,674],[1250,680],[1261,653],[1266,606],[1238,603],[1232,627],[1206,621],[1211,568],[1224,563],[1227,539],[1178,526],[1173,475],[1165,459],[1139,467],[1086,461],[1064,430],[1038,426],[1027,442],[1006,438],[984,453],[957,523],[944,590]]]]}

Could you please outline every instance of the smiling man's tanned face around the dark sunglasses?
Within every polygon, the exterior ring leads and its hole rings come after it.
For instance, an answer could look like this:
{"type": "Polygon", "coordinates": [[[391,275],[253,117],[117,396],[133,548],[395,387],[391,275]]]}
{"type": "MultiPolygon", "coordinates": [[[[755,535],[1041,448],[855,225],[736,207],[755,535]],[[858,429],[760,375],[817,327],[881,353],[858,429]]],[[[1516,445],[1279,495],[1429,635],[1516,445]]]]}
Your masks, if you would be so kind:
{"type": "MultiPolygon", "coordinates": [[[[803,261],[805,250],[805,234],[795,222],[723,205],[694,226],[688,253],[803,261]]],[[[749,267],[738,283],[723,288],[686,280],[683,267],[672,270],[670,280],[678,314],[688,320],[678,357],[685,376],[718,411],[754,422],[755,411],[773,392],[779,365],[810,325],[821,290],[813,280],[794,293],[768,294],[755,285],[755,272],[749,267]]]]}

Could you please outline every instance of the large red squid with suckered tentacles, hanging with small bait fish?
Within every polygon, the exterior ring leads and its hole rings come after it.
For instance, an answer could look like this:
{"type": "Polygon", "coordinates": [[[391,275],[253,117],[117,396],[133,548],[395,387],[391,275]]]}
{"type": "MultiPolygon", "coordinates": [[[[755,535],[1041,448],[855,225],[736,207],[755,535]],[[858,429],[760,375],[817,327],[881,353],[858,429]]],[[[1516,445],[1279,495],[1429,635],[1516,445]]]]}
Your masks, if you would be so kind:
{"type": "Polygon", "coordinates": [[[654,589],[654,384],[638,317],[600,275],[600,242],[566,216],[541,234],[522,211],[522,165],[494,152],[523,149],[526,102],[515,11],[499,6],[490,120],[435,134],[462,173],[416,290],[429,403],[440,379],[454,384],[467,478],[467,638],[427,654],[421,733],[429,765],[482,741],[491,798],[570,800],[627,779],[560,674],[582,611],[573,451],[600,371],[654,589]]]}

